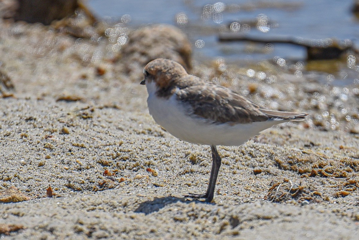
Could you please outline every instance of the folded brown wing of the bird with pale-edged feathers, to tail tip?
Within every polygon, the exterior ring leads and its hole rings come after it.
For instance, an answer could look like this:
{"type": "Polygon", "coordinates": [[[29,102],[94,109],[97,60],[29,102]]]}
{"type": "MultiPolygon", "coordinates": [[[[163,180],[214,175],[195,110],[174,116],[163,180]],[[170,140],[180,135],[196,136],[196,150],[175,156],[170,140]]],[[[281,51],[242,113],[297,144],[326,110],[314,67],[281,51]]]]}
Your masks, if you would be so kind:
{"type": "Polygon", "coordinates": [[[303,120],[307,116],[264,109],[236,92],[211,83],[185,87],[176,94],[178,100],[193,109],[192,114],[214,123],[251,123],[270,119],[303,120]]]}

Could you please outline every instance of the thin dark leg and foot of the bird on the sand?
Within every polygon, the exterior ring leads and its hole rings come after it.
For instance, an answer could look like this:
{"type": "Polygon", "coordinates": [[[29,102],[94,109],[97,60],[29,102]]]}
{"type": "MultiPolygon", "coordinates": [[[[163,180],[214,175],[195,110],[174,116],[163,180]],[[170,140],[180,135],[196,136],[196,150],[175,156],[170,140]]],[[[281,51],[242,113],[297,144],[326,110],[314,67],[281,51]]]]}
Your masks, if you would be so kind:
{"type": "Polygon", "coordinates": [[[205,198],[206,202],[211,202],[212,201],[213,193],[214,193],[214,187],[216,185],[216,180],[217,180],[219,167],[221,166],[221,157],[219,156],[219,154],[217,152],[216,146],[211,146],[211,149],[212,149],[213,162],[212,162],[211,177],[209,179],[207,192],[205,194],[189,193],[188,195],[186,195],[186,197],[205,198]]]}

